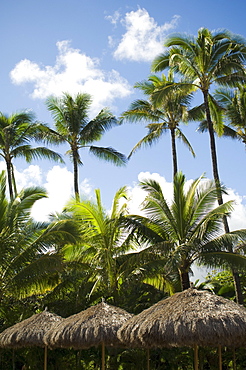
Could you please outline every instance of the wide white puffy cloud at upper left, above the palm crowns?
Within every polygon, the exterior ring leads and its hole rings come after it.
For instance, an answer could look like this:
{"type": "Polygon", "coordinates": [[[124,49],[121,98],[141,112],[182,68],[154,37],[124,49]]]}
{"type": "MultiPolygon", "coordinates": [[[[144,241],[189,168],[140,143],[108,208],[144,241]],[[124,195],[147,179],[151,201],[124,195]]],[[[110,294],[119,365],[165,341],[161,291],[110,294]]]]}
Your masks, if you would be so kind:
{"type": "Polygon", "coordinates": [[[54,66],[41,66],[28,59],[21,60],[10,72],[16,85],[31,83],[33,99],[45,99],[49,95],[59,96],[63,92],[71,95],[86,92],[92,95],[92,110],[110,106],[117,98],[132,93],[127,80],[111,70],[100,69],[100,61],[90,58],[79,49],[73,49],[67,40],[57,42],[58,56],[54,66]]]}

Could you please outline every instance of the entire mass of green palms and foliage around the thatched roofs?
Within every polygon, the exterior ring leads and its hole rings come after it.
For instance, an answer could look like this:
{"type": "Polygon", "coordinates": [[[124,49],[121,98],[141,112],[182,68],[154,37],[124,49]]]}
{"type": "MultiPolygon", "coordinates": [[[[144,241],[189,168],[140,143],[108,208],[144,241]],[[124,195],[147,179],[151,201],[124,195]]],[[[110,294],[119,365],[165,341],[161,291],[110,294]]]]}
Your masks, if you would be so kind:
{"type": "MultiPolygon", "coordinates": [[[[220,182],[215,145],[216,135],[246,142],[246,41],[227,30],[201,28],[196,37],[168,36],[165,47],[151,65],[155,75],[135,84],[147,99],[133,101],[118,119],[109,108],[91,118],[92,97],[86,92],[46,100],[54,128],[36,121],[29,111],[0,113],[0,156],[6,165],[0,173],[0,331],[45,308],[67,317],[102,299],[137,314],[188,289],[195,264],[210,268],[206,281],[195,282],[197,289],[246,305],[246,228],[229,230],[234,203],[223,201],[227,191],[220,182]],[[197,90],[202,103],[192,106],[197,90]],[[82,149],[119,166],[127,163],[126,156],[111,146],[94,145],[106,131],[125,122],[147,124],[148,130],[129,159],[164,133],[171,136],[172,198],[160,182],[145,178],[138,184],[145,194],[138,214],[130,213],[126,184],[116,191],[110,210],[103,205],[100,189],[88,197],[79,186],[82,149]],[[180,129],[191,122],[209,133],[213,180],[199,173],[187,182],[179,169],[177,138],[194,155],[180,129]],[[62,212],[36,221],[33,207],[48,194],[40,186],[18,189],[14,165],[17,158],[65,163],[52,149],[61,144],[69,147],[74,193],[62,212]]],[[[145,356],[143,349],[106,349],[111,369],[145,368],[145,356]]],[[[150,356],[155,369],[193,368],[187,348],[157,349],[150,356]]],[[[41,349],[16,350],[15,357],[2,349],[0,368],[39,369],[42,357],[41,349]]],[[[233,368],[232,357],[228,349],[223,351],[225,368],[233,368]]],[[[245,351],[238,350],[237,358],[237,368],[244,369],[245,351]]],[[[83,353],[57,349],[48,361],[54,370],[100,368],[96,348],[83,353]]],[[[200,363],[204,369],[216,368],[216,352],[201,349],[200,363]]]]}

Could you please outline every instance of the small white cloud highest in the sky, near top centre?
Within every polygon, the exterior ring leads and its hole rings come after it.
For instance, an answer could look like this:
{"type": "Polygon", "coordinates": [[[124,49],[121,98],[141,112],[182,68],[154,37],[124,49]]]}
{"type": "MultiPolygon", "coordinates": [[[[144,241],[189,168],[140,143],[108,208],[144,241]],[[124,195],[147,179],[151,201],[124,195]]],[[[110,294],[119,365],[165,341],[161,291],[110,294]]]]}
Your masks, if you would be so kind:
{"type": "MultiPolygon", "coordinates": [[[[119,60],[152,61],[156,55],[163,52],[164,37],[176,27],[178,19],[179,16],[175,15],[171,22],[158,26],[145,9],[126,13],[122,21],[126,33],[114,51],[114,57],[119,60]]],[[[109,44],[111,47],[114,45],[112,37],[109,37],[109,44]]]]}

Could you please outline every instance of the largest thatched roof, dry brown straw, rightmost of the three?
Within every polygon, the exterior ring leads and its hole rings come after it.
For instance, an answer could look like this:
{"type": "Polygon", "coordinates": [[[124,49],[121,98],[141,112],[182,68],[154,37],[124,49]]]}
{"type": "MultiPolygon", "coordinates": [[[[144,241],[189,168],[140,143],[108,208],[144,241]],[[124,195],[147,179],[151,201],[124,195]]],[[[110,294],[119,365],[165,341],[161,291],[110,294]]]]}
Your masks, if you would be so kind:
{"type": "Polygon", "coordinates": [[[131,346],[244,346],[246,309],[193,288],[164,299],[131,318],[118,338],[131,346]]]}

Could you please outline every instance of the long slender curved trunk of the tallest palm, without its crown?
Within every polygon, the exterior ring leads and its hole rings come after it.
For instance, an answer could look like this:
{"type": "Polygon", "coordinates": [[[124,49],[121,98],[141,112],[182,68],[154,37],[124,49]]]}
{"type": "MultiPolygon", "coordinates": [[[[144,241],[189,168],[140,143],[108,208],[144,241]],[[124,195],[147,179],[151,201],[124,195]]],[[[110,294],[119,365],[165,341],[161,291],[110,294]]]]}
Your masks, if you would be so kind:
{"type": "MultiPolygon", "coordinates": [[[[210,150],[211,150],[211,158],[212,158],[212,168],[213,168],[213,176],[217,186],[217,196],[218,196],[218,203],[219,205],[223,204],[222,193],[220,189],[220,179],[219,179],[219,171],[218,171],[218,162],[217,162],[217,154],[216,154],[216,145],[215,145],[215,137],[214,137],[214,129],[213,129],[213,122],[210,115],[210,109],[208,104],[208,90],[203,91],[204,97],[204,104],[205,104],[205,111],[206,111],[206,118],[208,123],[208,132],[210,138],[210,150]]],[[[227,218],[224,217],[224,229],[226,233],[230,232],[229,225],[227,218]]],[[[230,252],[233,252],[231,249],[230,252]]],[[[240,277],[236,270],[232,269],[232,275],[234,280],[234,287],[236,292],[236,299],[237,303],[243,304],[243,294],[242,288],[240,283],[240,277]]]]}

